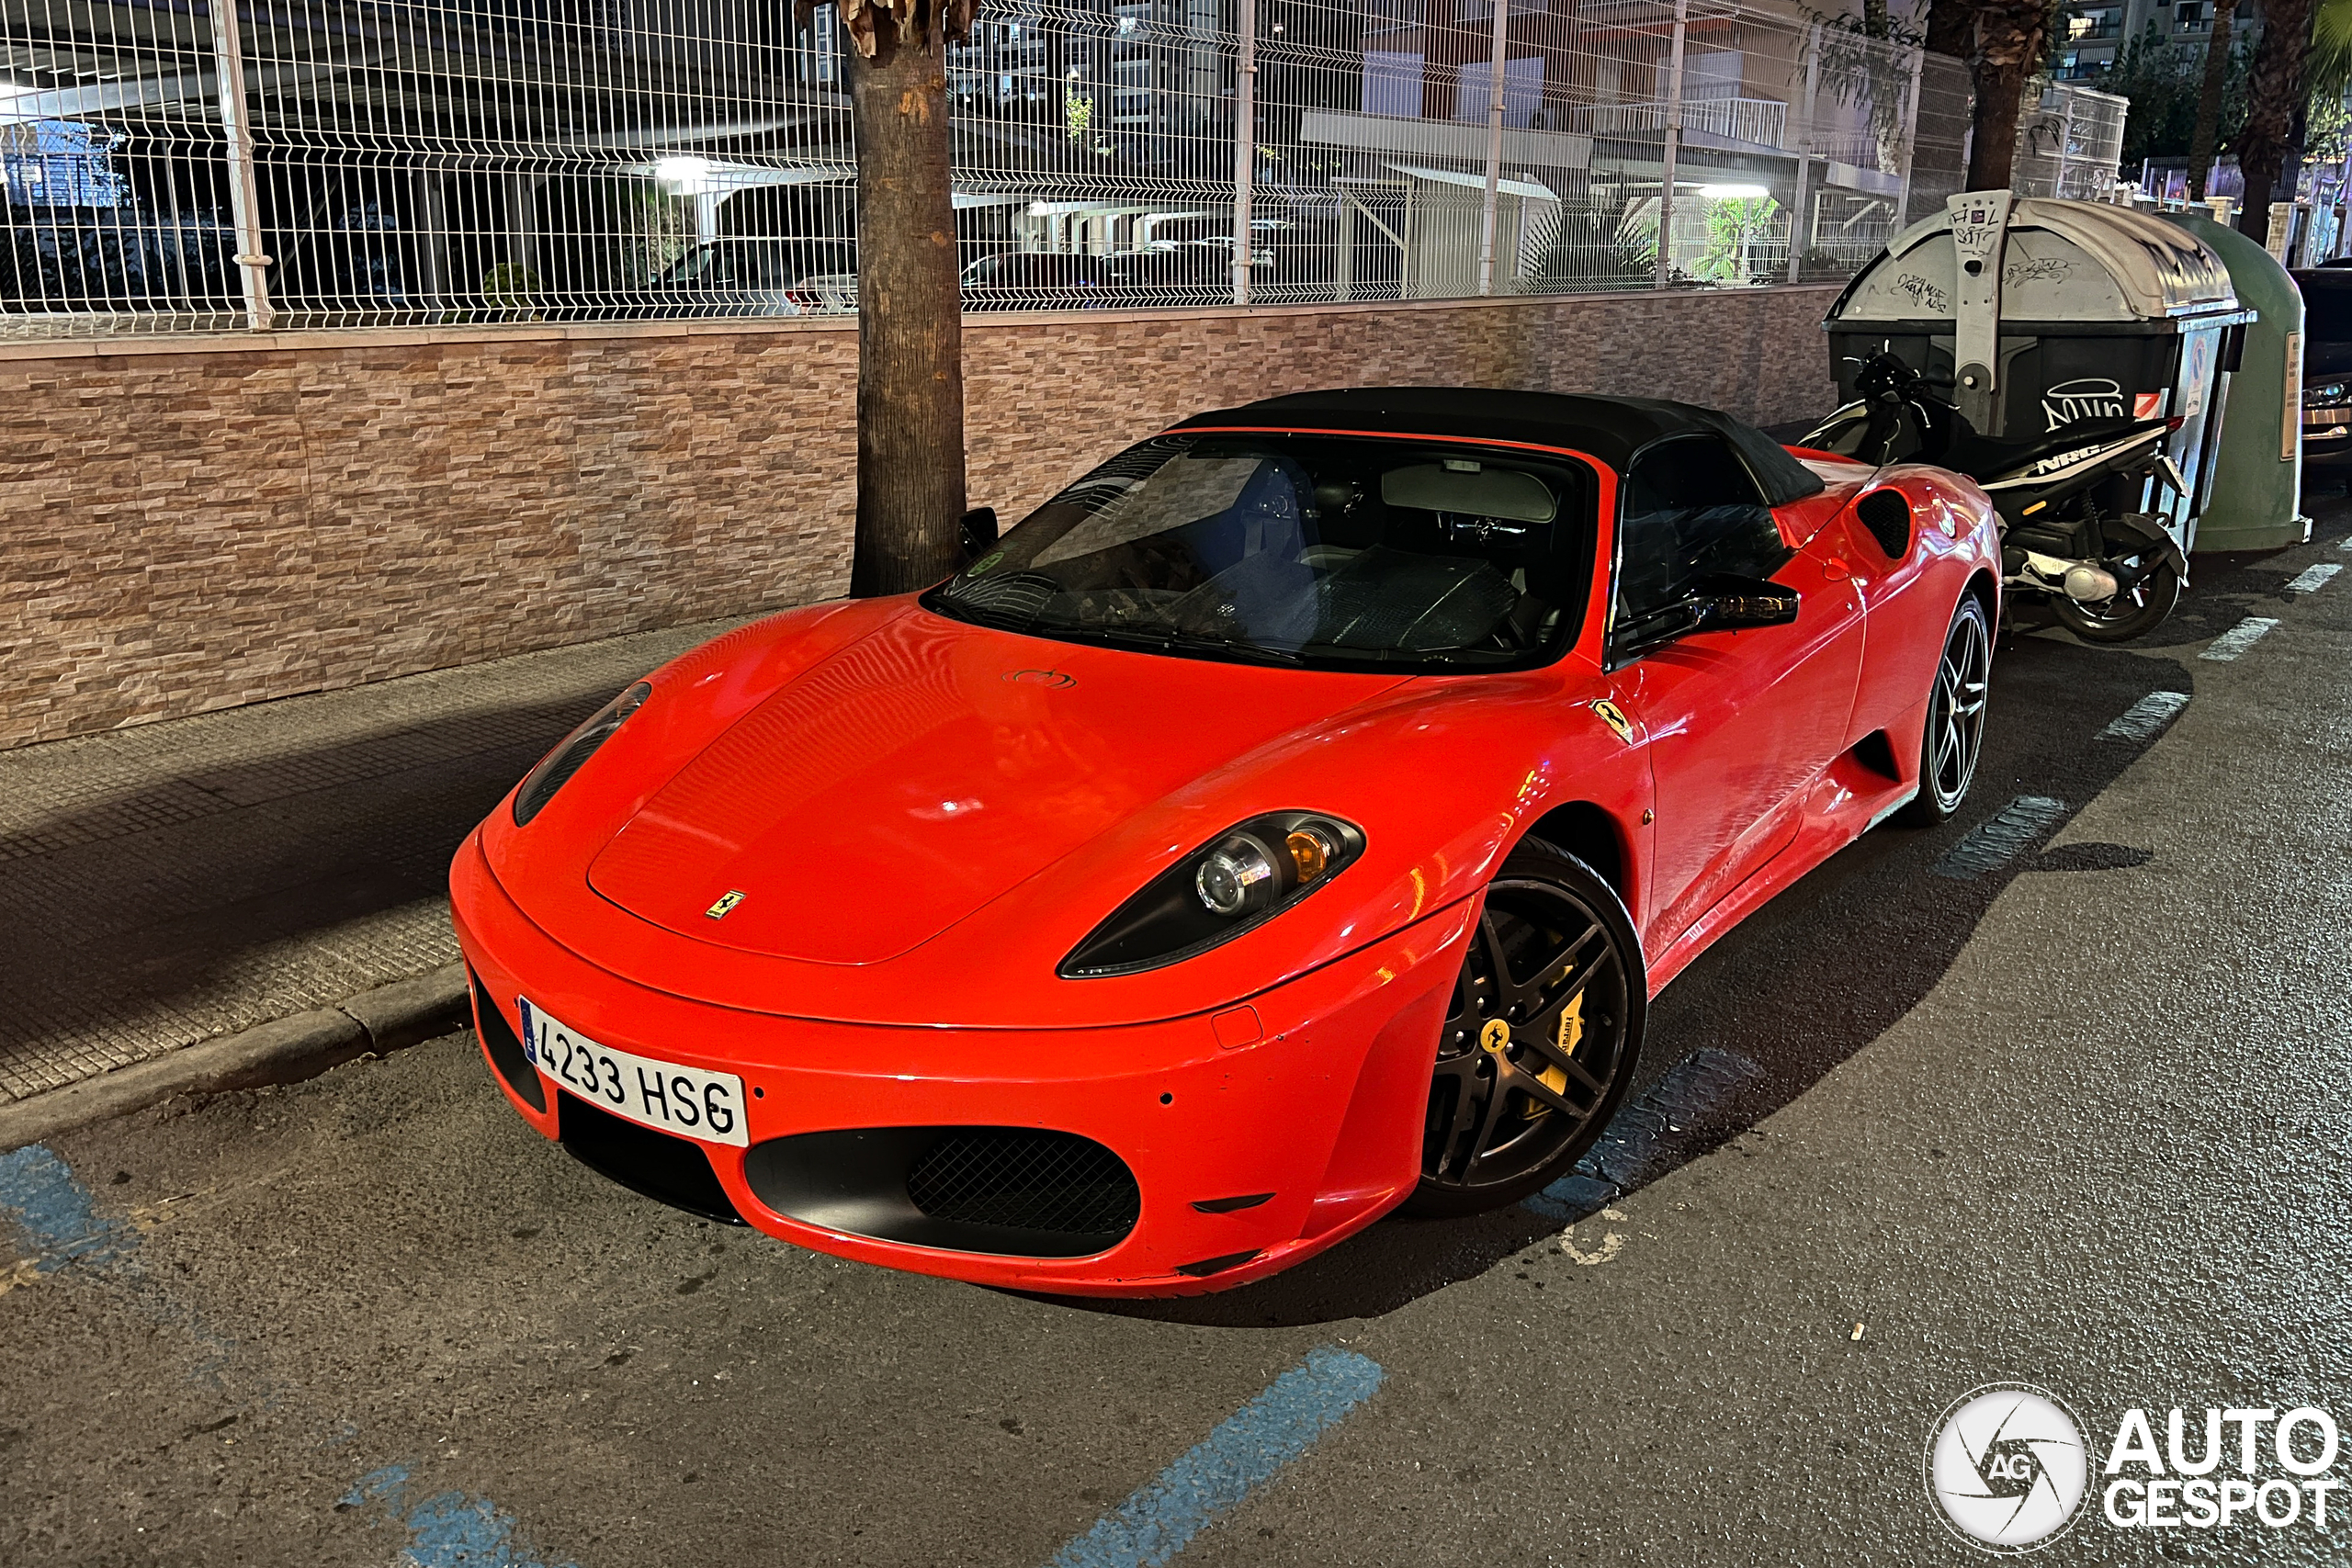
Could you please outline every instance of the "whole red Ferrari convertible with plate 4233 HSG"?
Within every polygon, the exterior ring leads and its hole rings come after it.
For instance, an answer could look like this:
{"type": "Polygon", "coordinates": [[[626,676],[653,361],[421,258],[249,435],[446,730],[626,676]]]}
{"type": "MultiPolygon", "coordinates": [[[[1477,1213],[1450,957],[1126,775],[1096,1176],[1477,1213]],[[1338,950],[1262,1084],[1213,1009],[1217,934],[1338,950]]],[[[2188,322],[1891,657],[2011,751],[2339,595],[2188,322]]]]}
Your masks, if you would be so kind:
{"type": "Polygon", "coordinates": [[[1959,806],[1997,595],[1966,480],[1708,409],[1202,414],[557,745],[452,872],[482,1046],[588,1166],[802,1246],[1261,1279],[1564,1175],[1661,985],[1959,806]]]}

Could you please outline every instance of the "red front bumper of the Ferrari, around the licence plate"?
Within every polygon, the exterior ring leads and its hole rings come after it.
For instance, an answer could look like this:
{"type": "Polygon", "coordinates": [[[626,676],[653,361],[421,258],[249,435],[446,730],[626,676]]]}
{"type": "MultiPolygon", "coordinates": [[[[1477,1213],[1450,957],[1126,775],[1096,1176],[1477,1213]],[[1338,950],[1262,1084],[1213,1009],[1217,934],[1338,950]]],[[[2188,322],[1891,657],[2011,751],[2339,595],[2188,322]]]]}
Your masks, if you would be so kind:
{"type": "MultiPolygon", "coordinates": [[[[687,1147],[708,1157],[746,1222],[866,1262],[1075,1295],[1188,1295],[1247,1284],[1399,1204],[1418,1180],[1430,1063],[1475,912],[1472,903],[1451,905],[1242,1006],[1188,1018],[917,1030],[750,1013],[619,980],[529,922],[475,839],[459,851],[449,882],[475,1004],[501,1013],[477,1018],[489,1025],[485,1056],[508,1103],[543,1135],[564,1135],[567,1091],[515,1051],[501,1065],[489,1048],[494,1034],[513,1034],[517,997],[604,1046],[741,1074],[746,1095],[755,1095],[743,1107],[750,1147],[687,1147]],[[929,1234],[901,1222],[910,1213],[906,1159],[922,1145],[910,1128],[1091,1140],[1131,1171],[1141,1199],[1134,1225],[1084,1255],[894,1239],[929,1234]],[[894,1168],[891,1150],[901,1147],[908,1152],[894,1168]],[[842,1150],[842,1180],[875,1190],[835,1192],[840,1201],[811,1208],[802,1201],[811,1150],[842,1150]],[[1258,1194],[1268,1197],[1230,1206],[1258,1194]],[[811,1222],[809,1213],[837,1225],[811,1222]],[[842,1227],[858,1225],[861,1213],[884,1215],[866,1229],[889,1234],[842,1227]]],[[[1084,999],[1082,980],[1054,985],[1084,999]]],[[[583,1121],[574,1114],[574,1135],[583,1121]]],[[[576,1138],[567,1143],[579,1152],[576,1138]]],[[[630,1180],[607,1159],[583,1159],[630,1180]]]]}

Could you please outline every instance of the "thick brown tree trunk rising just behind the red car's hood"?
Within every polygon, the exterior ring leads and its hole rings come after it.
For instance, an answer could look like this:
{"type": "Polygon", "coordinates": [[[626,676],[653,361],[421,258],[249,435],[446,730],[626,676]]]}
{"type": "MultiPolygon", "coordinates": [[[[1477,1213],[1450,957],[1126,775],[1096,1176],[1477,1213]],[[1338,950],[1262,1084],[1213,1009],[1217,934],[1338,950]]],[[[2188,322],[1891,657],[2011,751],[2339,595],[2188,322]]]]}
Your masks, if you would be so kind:
{"type": "Polygon", "coordinates": [[[960,564],[964,317],[948,188],[946,7],[844,5],[858,139],[858,524],[851,595],[960,564]],[[863,26],[858,26],[863,24],[863,26]],[[906,24],[906,26],[901,26],[906,24]]]}

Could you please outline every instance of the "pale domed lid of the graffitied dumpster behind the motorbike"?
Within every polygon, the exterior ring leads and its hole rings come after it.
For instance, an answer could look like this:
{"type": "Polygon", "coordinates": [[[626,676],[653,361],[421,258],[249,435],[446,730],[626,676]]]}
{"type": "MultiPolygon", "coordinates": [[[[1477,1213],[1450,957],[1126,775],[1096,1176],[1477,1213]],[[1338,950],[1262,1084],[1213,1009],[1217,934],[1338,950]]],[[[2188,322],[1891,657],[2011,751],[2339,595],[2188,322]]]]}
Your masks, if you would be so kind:
{"type": "MultiPolygon", "coordinates": [[[[1952,214],[1905,228],[1839,301],[1837,322],[1952,320],[1952,214]]],[[[2002,256],[2006,322],[2136,322],[2234,310],[2197,235],[2131,207],[2018,197],[2002,256]]]]}

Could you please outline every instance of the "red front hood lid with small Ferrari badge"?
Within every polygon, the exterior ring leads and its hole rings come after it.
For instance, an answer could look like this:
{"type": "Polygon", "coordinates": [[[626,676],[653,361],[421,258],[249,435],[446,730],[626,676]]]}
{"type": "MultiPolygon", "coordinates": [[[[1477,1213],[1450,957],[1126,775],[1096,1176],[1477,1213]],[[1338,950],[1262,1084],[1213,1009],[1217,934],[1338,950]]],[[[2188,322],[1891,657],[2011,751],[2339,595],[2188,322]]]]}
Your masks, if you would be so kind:
{"type": "Polygon", "coordinates": [[[703,943],[880,964],[1399,679],[1049,642],[908,607],[687,762],[588,882],[703,943]]]}

